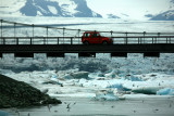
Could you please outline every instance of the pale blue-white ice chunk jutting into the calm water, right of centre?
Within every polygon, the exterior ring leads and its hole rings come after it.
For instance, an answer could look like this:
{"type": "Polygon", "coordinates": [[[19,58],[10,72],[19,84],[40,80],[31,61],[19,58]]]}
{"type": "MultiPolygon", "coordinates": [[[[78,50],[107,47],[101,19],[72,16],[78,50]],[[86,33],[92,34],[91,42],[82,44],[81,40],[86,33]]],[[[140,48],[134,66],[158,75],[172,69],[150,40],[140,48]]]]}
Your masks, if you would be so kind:
{"type": "Polygon", "coordinates": [[[117,101],[119,96],[116,96],[113,91],[104,91],[97,93],[95,100],[117,101]]]}

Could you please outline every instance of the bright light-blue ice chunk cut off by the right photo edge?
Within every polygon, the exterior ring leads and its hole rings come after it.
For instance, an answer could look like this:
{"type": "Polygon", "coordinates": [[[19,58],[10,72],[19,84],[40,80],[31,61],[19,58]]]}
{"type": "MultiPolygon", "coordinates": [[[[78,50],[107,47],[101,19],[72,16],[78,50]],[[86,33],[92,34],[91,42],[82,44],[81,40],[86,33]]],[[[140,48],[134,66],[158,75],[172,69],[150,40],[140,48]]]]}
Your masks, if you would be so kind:
{"type": "Polygon", "coordinates": [[[174,89],[164,88],[164,89],[157,91],[157,94],[158,95],[174,95],[174,89]]]}

